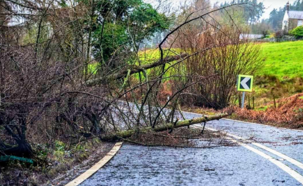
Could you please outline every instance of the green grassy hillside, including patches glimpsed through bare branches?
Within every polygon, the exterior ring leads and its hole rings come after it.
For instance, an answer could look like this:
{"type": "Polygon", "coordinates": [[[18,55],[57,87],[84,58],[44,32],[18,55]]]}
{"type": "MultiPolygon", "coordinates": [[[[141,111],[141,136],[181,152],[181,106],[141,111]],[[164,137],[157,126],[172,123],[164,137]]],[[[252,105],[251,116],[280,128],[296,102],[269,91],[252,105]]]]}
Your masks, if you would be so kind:
{"type": "MultiPolygon", "coordinates": [[[[303,41],[279,43],[261,43],[261,52],[266,60],[264,66],[255,74],[254,91],[256,106],[272,102],[272,93],[276,98],[291,96],[303,92],[303,41]]],[[[166,55],[174,55],[178,49],[166,55]]],[[[160,56],[158,49],[140,52],[142,64],[151,63],[160,56]]],[[[90,64],[89,70],[96,72],[97,64],[90,64]]],[[[160,69],[160,68],[159,68],[160,69]]],[[[151,70],[147,70],[150,73],[151,70]]],[[[169,74],[174,70],[168,70],[169,74]]],[[[138,75],[135,75],[138,78],[138,75]]]]}

